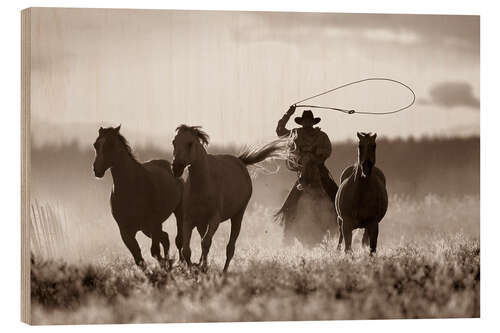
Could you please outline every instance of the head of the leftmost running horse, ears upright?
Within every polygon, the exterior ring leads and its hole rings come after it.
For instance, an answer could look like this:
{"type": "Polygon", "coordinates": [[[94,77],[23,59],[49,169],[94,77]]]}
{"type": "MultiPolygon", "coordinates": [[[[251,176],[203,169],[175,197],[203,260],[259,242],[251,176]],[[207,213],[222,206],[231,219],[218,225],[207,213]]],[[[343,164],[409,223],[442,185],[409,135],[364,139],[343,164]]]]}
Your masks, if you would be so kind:
{"type": "Polygon", "coordinates": [[[121,125],[115,128],[99,128],[99,136],[94,142],[94,174],[98,178],[102,178],[106,170],[111,168],[117,160],[120,127],[121,125]]]}

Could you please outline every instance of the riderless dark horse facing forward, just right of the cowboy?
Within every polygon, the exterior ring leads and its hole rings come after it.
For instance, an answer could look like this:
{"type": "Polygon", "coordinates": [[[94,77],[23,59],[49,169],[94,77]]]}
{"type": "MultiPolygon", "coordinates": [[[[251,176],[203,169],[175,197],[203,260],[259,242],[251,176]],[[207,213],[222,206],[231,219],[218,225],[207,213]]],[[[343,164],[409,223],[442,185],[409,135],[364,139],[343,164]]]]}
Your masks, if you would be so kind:
{"type": "Polygon", "coordinates": [[[373,254],[377,250],[378,224],[387,212],[387,190],[385,176],[375,166],[377,134],[357,135],[358,161],[342,172],[335,197],[340,232],[338,249],[344,238],[345,252],[349,252],[352,230],[364,228],[363,246],[370,245],[370,253],[373,254]]]}

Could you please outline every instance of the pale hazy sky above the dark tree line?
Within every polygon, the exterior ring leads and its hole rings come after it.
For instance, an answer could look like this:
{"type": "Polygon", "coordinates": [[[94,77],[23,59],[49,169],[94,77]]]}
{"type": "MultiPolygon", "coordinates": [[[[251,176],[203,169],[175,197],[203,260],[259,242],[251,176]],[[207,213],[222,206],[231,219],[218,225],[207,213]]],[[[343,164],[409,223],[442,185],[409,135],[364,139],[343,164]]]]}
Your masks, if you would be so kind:
{"type": "MultiPolygon", "coordinates": [[[[38,142],[87,144],[99,126],[120,123],[133,145],[170,145],[181,123],[202,125],[215,143],[262,142],[293,102],[373,76],[410,85],[416,105],[385,117],[315,110],[331,139],[357,130],[391,138],[479,135],[477,16],[32,12],[38,142]]],[[[369,83],[310,103],[387,111],[410,97],[369,83]]]]}

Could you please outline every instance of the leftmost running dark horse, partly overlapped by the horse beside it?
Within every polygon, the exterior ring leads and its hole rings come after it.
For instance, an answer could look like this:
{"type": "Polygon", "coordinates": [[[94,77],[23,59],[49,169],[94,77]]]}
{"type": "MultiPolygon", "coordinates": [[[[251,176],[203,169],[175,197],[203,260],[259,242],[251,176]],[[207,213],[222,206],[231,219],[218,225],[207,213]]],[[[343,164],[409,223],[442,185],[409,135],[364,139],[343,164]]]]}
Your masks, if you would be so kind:
{"type": "Polygon", "coordinates": [[[127,140],[120,134],[120,126],[100,128],[94,148],[94,174],[102,178],[111,169],[113,189],[111,191],[111,213],[118,223],[120,235],[132,253],[135,263],[144,267],[144,259],[135,239],[142,231],[152,239],[151,255],[163,267],[170,263],[168,234],[162,223],[172,214],[177,219],[175,244],[182,247],[182,181],[172,174],[166,160],[137,161],[127,140]],[[160,243],[164,257],[161,256],[160,243]]]}

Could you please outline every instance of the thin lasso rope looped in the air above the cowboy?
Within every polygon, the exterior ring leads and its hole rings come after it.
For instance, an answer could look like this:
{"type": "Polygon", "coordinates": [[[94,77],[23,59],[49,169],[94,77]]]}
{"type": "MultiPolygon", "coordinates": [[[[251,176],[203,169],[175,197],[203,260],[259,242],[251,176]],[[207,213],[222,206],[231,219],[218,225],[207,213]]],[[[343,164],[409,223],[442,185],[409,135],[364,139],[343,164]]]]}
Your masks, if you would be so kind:
{"type": "Polygon", "coordinates": [[[371,77],[371,78],[362,79],[362,80],[353,81],[353,82],[349,82],[349,83],[343,84],[341,86],[329,89],[329,90],[324,91],[322,93],[319,93],[317,95],[314,95],[314,96],[305,98],[303,100],[300,100],[298,102],[295,102],[292,105],[295,105],[295,107],[302,107],[302,108],[333,110],[333,111],[343,112],[343,113],[346,113],[346,114],[357,113],[357,114],[371,114],[371,115],[387,115],[387,114],[398,113],[398,112],[401,112],[403,110],[406,110],[406,109],[410,108],[413,104],[415,104],[415,99],[416,99],[416,96],[415,96],[415,92],[413,91],[413,89],[411,89],[409,86],[407,86],[403,82],[398,81],[398,80],[394,80],[394,79],[385,78],[385,77],[371,77]],[[408,89],[411,92],[411,94],[412,94],[412,100],[411,100],[410,104],[408,104],[408,105],[406,105],[406,106],[404,106],[402,108],[399,108],[397,110],[392,110],[392,111],[385,111],[385,112],[358,111],[358,110],[354,110],[354,109],[341,109],[341,108],[334,108],[334,107],[329,107],[329,106],[300,104],[300,103],[306,102],[308,100],[311,100],[313,98],[326,95],[326,94],[331,93],[331,92],[333,92],[335,90],[339,90],[339,89],[342,89],[342,88],[345,88],[345,87],[348,87],[348,86],[352,86],[354,84],[358,84],[358,83],[361,83],[361,82],[366,82],[366,81],[389,81],[389,82],[397,83],[397,84],[405,87],[406,89],[408,89]]]}

